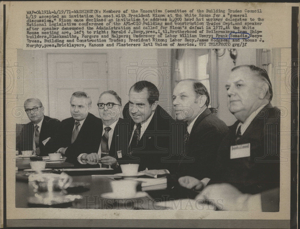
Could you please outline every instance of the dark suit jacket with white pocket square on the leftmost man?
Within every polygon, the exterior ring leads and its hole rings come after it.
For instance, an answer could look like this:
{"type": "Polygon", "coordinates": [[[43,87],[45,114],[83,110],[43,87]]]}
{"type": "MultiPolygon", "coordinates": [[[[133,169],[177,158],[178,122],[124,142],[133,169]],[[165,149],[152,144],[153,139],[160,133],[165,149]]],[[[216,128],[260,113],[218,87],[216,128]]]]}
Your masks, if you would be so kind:
{"type": "MultiPolygon", "coordinates": [[[[48,153],[52,152],[50,143],[56,139],[59,126],[60,121],[58,119],[44,116],[39,137],[40,156],[47,156],[48,153]],[[48,137],[51,139],[44,145],[43,141],[48,137]]],[[[22,154],[21,151],[23,150],[33,150],[34,132],[33,122],[16,125],[16,149],[19,151],[19,154],[22,154]]]]}

